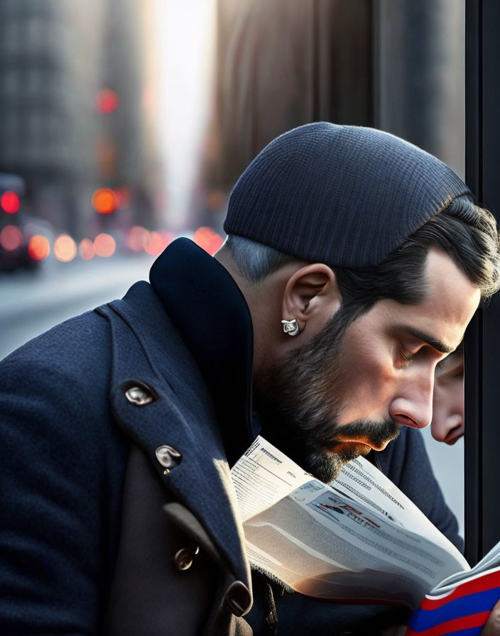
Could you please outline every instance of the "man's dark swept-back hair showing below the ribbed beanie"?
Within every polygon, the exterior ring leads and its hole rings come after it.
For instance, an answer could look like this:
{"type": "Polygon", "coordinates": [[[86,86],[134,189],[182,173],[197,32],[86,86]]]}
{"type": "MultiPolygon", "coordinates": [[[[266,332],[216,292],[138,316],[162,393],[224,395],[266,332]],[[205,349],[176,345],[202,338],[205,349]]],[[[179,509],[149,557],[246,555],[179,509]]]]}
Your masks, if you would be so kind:
{"type": "MultiPolygon", "coordinates": [[[[241,275],[258,283],[282,265],[297,260],[274,248],[241,236],[229,235],[226,246],[241,275]]],[[[391,298],[415,304],[425,297],[423,276],[430,248],[445,252],[456,263],[482,300],[500,288],[499,236],[494,216],[468,196],[457,197],[435,214],[379,265],[369,268],[332,267],[344,308],[352,319],[368,311],[377,300],[391,298]]]]}

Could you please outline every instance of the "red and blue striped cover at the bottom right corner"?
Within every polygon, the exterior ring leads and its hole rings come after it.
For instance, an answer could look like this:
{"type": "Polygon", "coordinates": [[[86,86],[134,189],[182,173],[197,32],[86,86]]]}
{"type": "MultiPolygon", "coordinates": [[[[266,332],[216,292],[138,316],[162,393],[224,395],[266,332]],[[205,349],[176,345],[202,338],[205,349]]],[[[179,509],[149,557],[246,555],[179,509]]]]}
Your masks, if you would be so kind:
{"type": "Polygon", "coordinates": [[[500,567],[457,583],[439,596],[425,596],[405,636],[479,636],[500,599],[500,567]]]}

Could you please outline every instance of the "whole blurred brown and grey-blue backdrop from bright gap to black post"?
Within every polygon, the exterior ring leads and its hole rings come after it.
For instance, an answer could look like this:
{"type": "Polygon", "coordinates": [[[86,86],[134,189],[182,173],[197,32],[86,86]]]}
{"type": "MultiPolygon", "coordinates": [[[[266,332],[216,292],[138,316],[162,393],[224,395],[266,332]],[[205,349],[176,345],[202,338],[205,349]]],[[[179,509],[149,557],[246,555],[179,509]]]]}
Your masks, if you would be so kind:
{"type": "Polygon", "coordinates": [[[227,197],[271,139],[320,120],[395,133],[463,175],[464,0],[217,6],[207,192],[227,197]]]}

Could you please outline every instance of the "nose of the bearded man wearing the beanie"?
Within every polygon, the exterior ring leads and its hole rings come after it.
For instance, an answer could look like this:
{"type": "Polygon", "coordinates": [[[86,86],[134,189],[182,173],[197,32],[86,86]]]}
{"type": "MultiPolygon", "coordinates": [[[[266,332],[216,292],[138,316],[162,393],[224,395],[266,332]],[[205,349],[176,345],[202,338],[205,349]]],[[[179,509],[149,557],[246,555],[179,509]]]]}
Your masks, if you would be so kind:
{"type": "Polygon", "coordinates": [[[389,416],[396,424],[425,428],[433,419],[433,389],[434,371],[405,378],[389,406],[389,416]]]}

